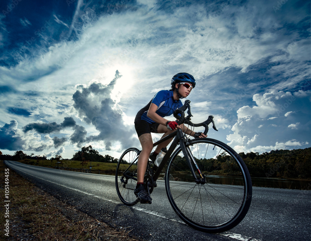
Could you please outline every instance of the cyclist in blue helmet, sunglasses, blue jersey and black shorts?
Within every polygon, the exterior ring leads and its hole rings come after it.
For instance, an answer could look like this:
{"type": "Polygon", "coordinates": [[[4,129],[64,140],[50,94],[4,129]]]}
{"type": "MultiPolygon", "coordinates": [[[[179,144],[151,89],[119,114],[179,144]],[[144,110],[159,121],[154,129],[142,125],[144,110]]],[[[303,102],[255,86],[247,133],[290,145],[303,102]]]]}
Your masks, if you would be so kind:
{"type": "MultiPolygon", "coordinates": [[[[176,121],[169,121],[164,117],[172,115],[174,110],[183,105],[180,99],[186,98],[195,85],[195,79],[191,74],[182,72],[174,75],[171,79],[171,89],[160,90],[156,93],[150,102],[138,111],[135,117],[135,129],[142,145],[142,152],[138,157],[137,186],[134,190],[134,194],[139,197],[142,202],[152,200],[144,186],[144,176],[148,158],[155,161],[160,150],[172,141],[172,139],[169,139],[168,141],[160,143],[151,154],[153,148],[151,132],[164,133],[161,137],[163,138],[177,130],[177,128],[183,128],[183,124],[178,125],[176,121]]],[[[196,138],[207,137],[207,135],[201,132],[193,132],[188,128],[184,132],[196,138]]]]}

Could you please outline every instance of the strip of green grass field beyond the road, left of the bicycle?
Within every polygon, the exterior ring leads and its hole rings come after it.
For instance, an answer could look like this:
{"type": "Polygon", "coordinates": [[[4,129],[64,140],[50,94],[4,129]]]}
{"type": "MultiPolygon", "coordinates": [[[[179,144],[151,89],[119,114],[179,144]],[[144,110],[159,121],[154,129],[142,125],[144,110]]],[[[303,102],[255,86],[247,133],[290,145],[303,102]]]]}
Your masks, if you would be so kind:
{"type": "MultiPolygon", "coordinates": [[[[28,165],[37,165],[37,166],[43,166],[43,167],[51,167],[54,168],[57,166],[56,160],[39,160],[37,163],[36,160],[20,160],[21,163],[25,163],[28,165]]],[[[58,165],[59,167],[63,168],[82,168],[81,161],[72,161],[72,160],[61,160],[61,164],[58,165]]],[[[117,167],[117,163],[108,163],[108,162],[95,162],[92,161],[92,169],[91,173],[98,173],[96,170],[100,170],[100,174],[108,174],[108,175],[114,175],[115,170],[117,167]]],[[[83,166],[83,169],[90,169],[90,162],[86,166],[83,166]]],[[[66,169],[65,169],[66,170],[66,169]]],[[[80,171],[80,170],[78,170],[80,171]]]]}

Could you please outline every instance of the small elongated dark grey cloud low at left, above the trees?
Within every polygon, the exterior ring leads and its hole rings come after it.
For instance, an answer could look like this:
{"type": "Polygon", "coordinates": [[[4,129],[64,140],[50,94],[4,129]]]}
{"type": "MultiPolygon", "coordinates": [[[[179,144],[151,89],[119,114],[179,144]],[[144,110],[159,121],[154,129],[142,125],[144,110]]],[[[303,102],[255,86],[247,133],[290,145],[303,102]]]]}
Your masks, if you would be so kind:
{"type": "Polygon", "coordinates": [[[23,127],[23,131],[26,133],[30,130],[35,130],[40,134],[49,134],[54,132],[59,132],[66,127],[74,127],[76,125],[75,120],[72,117],[65,117],[64,121],[60,124],[56,122],[51,123],[29,123],[23,127]]]}

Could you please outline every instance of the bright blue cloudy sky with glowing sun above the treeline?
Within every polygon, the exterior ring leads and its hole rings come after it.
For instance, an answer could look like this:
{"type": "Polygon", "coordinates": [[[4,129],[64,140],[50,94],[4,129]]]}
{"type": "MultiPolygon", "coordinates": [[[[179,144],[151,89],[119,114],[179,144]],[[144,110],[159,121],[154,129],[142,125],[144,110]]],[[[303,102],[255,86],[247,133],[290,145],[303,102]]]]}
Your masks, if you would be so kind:
{"type": "Polygon", "coordinates": [[[135,115],[178,72],[196,79],[193,122],[214,116],[208,137],[311,146],[310,1],[3,0],[0,53],[3,154],[141,148],[135,115]]]}

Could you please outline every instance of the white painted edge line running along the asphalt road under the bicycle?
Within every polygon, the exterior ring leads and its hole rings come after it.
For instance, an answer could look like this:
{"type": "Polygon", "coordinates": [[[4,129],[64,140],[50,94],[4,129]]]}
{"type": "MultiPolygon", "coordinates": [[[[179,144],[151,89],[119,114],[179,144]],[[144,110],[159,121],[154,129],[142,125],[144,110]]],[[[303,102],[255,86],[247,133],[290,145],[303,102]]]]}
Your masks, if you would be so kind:
{"type": "MultiPolygon", "coordinates": [[[[21,170],[19,170],[21,171],[21,170]]],[[[31,174],[28,174],[24,171],[21,171],[27,175],[30,175],[30,176],[33,176],[35,178],[39,178],[39,177],[36,177],[34,175],[31,175],[31,174]]],[[[43,179],[43,178],[39,178],[41,180],[44,180],[46,182],[50,182],[50,183],[53,183],[53,184],[56,184],[56,185],[59,185],[59,186],[62,186],[64,188],[69,188],[71,190],[74,190],[74,191],[77,191],[77,192],[81,192],[81,193],[84,193],[84,194],[87,194],[87,195],[90,195],[92,197],[97,197],[97,198],[100,198],[102,200],[105,200],[105,201],[108,201],[108,202],[112,202],[112,203],[116,203],[116,204],[121,204],[120,202],[116,202],[114,200],[111,200],[111,199],[107,199],[107,198],[104,198],[104,197],[100,197],[100,196],[96,196],[95,194],[93,193],[90,193],[90,192],[84,192],[84,191],[81,191],[77,188],[71,188],[71,187],[67,187],[63,184],[59,184],[59,183],[55,183],[55,182],[52,182],[52,181],[49,181],[49,180],[46,180],[46,179],[43,179]]],[[[148,214],[151,214],[151,215],[154,215],[154,216],[158,216],[158,217],[161,217],[161,218],[164,218],[164,219],[167,219],[167,220],[171,220],[171,221],[174,221],[174,222],[177,222],[177,223],[181,223],[181,224],[185,224],[183,221],[181,220],[176,220],[174,218],[169,218],[169,217],[166,217],[165,214],[163,213],[159,213],[159,212],[156,212],[156,211],[152,211],[152,210],[148,210],[148,209],[145,209],[145,208],[142,208],[142,207],[137,207],[137,206],[127,206],[125,204],[121,204],[125,207],[128,207],[128,208],[132,208],[132,209],[135,209],[137,211],[142,211],[142,212],[145,212],[145,213],[148,213],[148,214]]],[[[215,234],[217,235],[217,234],[215,234]]],[[[223,233],[219,233],[218,235],[222,235],[222,236],[226,236],[226,237],[230,237],[232,239],[236,239],[236,240],[241,240],[241,241],[262,241],[260,239],[254,239],[254,238],[251,238],[251,237],[246,237],[246,236],[242,236],[241,234],[235,234],[235,233],[231,233],[231,232],[223,232],[223,233]]]]}

